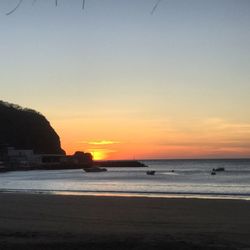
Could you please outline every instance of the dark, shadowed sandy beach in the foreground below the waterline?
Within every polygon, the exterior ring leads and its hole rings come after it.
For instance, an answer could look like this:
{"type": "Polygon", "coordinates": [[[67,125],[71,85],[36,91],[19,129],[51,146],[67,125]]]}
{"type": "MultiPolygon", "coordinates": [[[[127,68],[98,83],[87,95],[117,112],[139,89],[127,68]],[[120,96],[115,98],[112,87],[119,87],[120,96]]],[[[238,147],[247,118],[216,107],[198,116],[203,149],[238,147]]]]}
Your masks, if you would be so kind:
{"type": "Polygon", "coordinates": [[[1,193],[0,249],[250,249],[250,202],[1,193]]]}

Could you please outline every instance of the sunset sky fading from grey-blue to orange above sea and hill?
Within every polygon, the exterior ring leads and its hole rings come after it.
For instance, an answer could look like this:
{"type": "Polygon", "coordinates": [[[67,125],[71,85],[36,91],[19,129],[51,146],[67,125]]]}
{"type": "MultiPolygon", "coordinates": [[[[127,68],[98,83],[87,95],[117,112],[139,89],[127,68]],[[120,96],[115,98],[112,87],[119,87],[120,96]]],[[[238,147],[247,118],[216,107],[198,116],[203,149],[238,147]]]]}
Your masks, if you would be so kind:
{"type": "Polygon", "coordinates": [[[250,157],[249,0],[0,1],[0,100],[67,154],[250,157]]]}

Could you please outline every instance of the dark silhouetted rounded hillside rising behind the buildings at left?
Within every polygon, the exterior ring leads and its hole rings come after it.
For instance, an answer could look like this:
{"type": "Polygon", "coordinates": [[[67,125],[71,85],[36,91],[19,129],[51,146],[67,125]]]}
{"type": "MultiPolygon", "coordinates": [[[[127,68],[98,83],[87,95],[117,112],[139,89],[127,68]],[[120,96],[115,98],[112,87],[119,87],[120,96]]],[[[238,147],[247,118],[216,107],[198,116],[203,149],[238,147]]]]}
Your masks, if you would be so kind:
{"type": "Polygon", "coordinates": [[[61,154],[60,138],[48,120],[32,109],[0,101],[0,145],[61,154]]]}

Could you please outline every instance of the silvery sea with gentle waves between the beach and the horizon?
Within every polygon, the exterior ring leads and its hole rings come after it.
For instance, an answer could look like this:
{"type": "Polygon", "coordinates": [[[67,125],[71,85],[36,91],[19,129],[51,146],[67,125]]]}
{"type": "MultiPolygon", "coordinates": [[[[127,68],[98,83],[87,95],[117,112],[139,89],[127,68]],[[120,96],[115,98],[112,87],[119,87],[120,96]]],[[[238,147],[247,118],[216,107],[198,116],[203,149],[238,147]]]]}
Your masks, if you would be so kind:
{"type": "Polygon", "coordinates": [[[250,159],[147,160],[146,168],[13,171],[0,192],[250,200],[250,159]],[[224,168],[212,175],[213,169],[224,168]],[[147,175],[147,171],[155,171],[147,175]]]}

